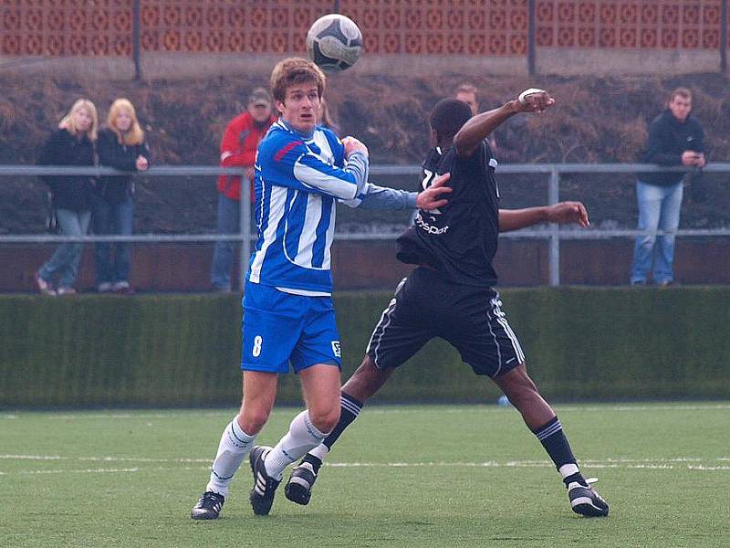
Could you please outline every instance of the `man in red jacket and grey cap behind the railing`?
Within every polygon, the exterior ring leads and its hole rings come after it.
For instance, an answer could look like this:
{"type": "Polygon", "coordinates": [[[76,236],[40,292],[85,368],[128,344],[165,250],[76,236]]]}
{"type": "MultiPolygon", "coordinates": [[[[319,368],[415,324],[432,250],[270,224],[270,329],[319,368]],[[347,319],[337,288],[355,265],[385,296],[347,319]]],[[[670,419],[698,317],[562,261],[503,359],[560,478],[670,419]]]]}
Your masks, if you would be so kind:
{"type": "MultiPolygon", "coordinates": [[[[256,148],[268,128],[276,121],[272,115],[271,95],[265,88],[255,88],[248,97],[245,112],[236,116],[225,128],[221,141],[221,166],[245,168],[244,187],[254,178],[256,148]]],[[[250,200],[254,189],[250,185],[250,200]]],[[[240,230],[241,177],[218,177],[218,234],[235,234],[240,230]]],[[[234,243],[215,243],[211,283],[217,291],[231,290],[231,268],[234,263],[234,243]]]]}

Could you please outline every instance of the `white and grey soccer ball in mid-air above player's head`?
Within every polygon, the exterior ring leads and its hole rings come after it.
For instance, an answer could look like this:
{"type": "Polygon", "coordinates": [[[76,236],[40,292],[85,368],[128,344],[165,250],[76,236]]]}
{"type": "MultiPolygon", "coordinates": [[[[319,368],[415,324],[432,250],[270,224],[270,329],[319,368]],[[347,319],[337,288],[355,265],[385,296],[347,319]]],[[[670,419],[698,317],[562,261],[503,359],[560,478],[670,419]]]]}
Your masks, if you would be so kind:
{"type": "Polygon", "coordinates": [[[309,27],[307,55],[322,70],[338,72],[352,67],[362,49],[360,28],[346,16],[321,16],[309,27]]]}

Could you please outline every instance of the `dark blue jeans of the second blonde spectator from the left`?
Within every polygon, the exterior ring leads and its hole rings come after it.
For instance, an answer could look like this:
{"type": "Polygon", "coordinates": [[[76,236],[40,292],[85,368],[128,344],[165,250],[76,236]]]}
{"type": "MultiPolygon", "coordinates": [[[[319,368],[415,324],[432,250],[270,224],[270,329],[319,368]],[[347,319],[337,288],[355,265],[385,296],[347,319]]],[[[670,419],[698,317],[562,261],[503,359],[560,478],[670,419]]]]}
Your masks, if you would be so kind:
{"type": "MultiPolygon", "coordinates": [[[[111,204],[101,196],[94,197],[94,234],[98,236],[130,236],[134,205],[131,198],[120,204],[111,204]]],[[[97,285],[129,281],[131,244],[129,242],[97,242],[94,248],[97,285]],[[114,252],[112,256],[112,247],[114,252]]]]}

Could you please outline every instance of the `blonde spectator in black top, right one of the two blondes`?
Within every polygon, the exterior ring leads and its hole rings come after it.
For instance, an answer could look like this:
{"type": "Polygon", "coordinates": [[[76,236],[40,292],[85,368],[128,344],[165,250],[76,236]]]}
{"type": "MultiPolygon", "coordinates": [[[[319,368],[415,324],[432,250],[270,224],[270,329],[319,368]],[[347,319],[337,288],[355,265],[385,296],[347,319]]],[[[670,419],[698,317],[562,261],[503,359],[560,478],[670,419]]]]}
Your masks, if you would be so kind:
{"type": "MultiPolygon", "coordinates": [[[[126,172],[145,171],[150,166],[150,149],[130,100],[111,103],[107,126],[99,132],[99,163],[126,172]]],[[[134,205],[131,174],[99,178],[94,193],[93,227],[101,236],[130,236],[134,205]]],[[[95,247],[97,290],[131,294],[130,242],[97,242],[95,247]]]]}

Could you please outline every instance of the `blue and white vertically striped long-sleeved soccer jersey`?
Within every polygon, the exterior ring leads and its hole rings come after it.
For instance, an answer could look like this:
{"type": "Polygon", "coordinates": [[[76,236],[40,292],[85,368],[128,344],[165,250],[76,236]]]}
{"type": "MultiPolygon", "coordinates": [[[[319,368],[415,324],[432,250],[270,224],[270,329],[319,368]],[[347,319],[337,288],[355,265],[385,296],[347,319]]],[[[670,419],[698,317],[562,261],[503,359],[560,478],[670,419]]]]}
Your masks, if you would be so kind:
{"type": "Polygon", "coordinates": [[[309,138],[277,121],[258,145],[255,216],[258,241],[246,279],[284,290],[331,293],[335,204],[360,205],[368,158],[328,129],[309,138]]]}

